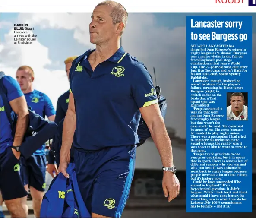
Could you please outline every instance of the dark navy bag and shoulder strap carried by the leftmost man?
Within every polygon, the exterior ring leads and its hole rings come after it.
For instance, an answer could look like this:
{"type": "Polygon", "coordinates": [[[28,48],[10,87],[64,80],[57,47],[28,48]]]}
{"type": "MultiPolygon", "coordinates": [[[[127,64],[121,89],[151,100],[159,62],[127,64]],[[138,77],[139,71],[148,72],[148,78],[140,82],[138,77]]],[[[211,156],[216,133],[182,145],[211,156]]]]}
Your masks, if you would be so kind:
{"type": "MultiPolygon", "coordinates": [[[[3,85],[3,78],[4,73],[1,71],[1,97],[3,99],[3,105],[6,111],[6,116],[9,120],[12,129],[13,138],[15,136],[16,130],[16,121],[17,121],[17,114],[15,114],[9,101],[7,99],[7,90],[3,85]]],[[[25,136],[20,146],[20,153],[21,155],[27,159],[29,158],[36,150],[41,148],[41,146],[51,139],[54,134],[57,132],[57,124],[50,121],[45,120],[38,114],[35,114],[28,108],[29,112],[29,124],[28,128],[25,132],[25,136]]]]}

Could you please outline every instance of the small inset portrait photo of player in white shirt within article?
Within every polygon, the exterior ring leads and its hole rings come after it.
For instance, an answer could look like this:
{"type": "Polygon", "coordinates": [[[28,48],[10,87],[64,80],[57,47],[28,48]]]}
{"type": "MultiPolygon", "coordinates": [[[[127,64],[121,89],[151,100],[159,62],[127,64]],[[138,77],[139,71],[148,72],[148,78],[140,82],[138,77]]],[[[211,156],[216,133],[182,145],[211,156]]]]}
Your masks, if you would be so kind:
{"type": "Polygon", "coordinates": [[[227,92],[227,120],[248,120],[248,92],[227,92]]]}

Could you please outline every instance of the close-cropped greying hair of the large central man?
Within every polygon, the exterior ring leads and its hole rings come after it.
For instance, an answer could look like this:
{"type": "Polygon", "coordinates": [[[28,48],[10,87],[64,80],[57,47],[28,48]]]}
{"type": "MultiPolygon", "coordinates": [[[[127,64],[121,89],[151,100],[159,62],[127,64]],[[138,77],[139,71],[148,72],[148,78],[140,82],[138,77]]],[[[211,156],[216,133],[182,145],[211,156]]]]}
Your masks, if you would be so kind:
{"type": "MultiPolygon", "coordinates": [[[[123,22],[124,28],[126,27],[128,13],[123,5],[121,5],[120,3],[114,2],[114,1],[103,1],[103,2],[99,3],[97,6],[101,6],[101,5],[107,5],[107,6],[111,6],[113,8],[110,13],[110,16],[113,20],[114,25],[116,25],[119,22],[123,22]]],[[[124,30],[124,28],[123,28],[123,30],[124,30]]],[[[123,31],[121,32],[121,35],[122,35],[122,33],[123,33],[123,31]]]]}

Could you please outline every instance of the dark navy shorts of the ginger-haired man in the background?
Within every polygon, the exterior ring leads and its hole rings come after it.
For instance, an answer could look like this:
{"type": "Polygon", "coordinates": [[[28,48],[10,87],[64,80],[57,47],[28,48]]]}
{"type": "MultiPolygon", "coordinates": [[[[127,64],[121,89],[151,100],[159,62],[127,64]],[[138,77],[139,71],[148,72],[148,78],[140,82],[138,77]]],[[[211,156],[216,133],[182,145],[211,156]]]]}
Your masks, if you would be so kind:
{"type": "Polygon", "coordinates": [[[46,157],[31,155],[27,160],[21,159],[21,178],[23,185],[32,186],[38,191],[45,190],[46,157]]]}

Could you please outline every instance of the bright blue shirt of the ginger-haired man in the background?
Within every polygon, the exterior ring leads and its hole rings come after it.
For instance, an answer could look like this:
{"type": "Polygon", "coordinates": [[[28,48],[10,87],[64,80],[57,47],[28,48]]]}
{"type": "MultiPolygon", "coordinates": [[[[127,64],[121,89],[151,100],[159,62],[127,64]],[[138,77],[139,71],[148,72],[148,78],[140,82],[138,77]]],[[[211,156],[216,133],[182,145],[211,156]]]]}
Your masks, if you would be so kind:
{"type": "MultiPolygon", "coordinates": [[[[54,106],[51,103],[50,98],[42,92],[34,90],[32,92],[24,94],[28,106],[31,107],[32,111],[39,114],[41,117],[50,117],[55,115],[54,106]]],[[[44,155],[45,144],[41,146],[33,155],[44,155]]]]}

